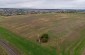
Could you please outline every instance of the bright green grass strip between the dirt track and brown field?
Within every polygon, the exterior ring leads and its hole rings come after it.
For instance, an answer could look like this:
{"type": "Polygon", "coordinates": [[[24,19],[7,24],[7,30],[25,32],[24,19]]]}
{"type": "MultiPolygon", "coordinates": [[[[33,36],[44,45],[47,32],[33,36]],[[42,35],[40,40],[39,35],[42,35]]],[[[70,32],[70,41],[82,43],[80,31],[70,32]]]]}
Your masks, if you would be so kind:
{"type": "Polygon", "coordinates": [[[55,50],[43,48],[40,45],[25,40],[24,38],[21,38],[20,36],[1,27],[0,37],[16,46],[19,50],[22,50],[22,55],[56,55],[55,50]]]}

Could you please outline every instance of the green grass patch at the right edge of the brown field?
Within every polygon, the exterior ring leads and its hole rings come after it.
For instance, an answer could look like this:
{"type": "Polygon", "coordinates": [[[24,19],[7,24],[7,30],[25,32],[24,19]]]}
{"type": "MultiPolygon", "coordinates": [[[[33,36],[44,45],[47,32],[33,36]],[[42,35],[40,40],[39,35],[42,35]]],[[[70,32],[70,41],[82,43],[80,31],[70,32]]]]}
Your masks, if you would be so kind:
{"type": "Polygon", "coordinates": [[[83,29],[82,31],[80,31],[81,34],[81,41],[80,44],[75,48],[75,53],[74,55],[80,55],[82,54],[82,51],[85,49],[85,29],[83,29]]]}

